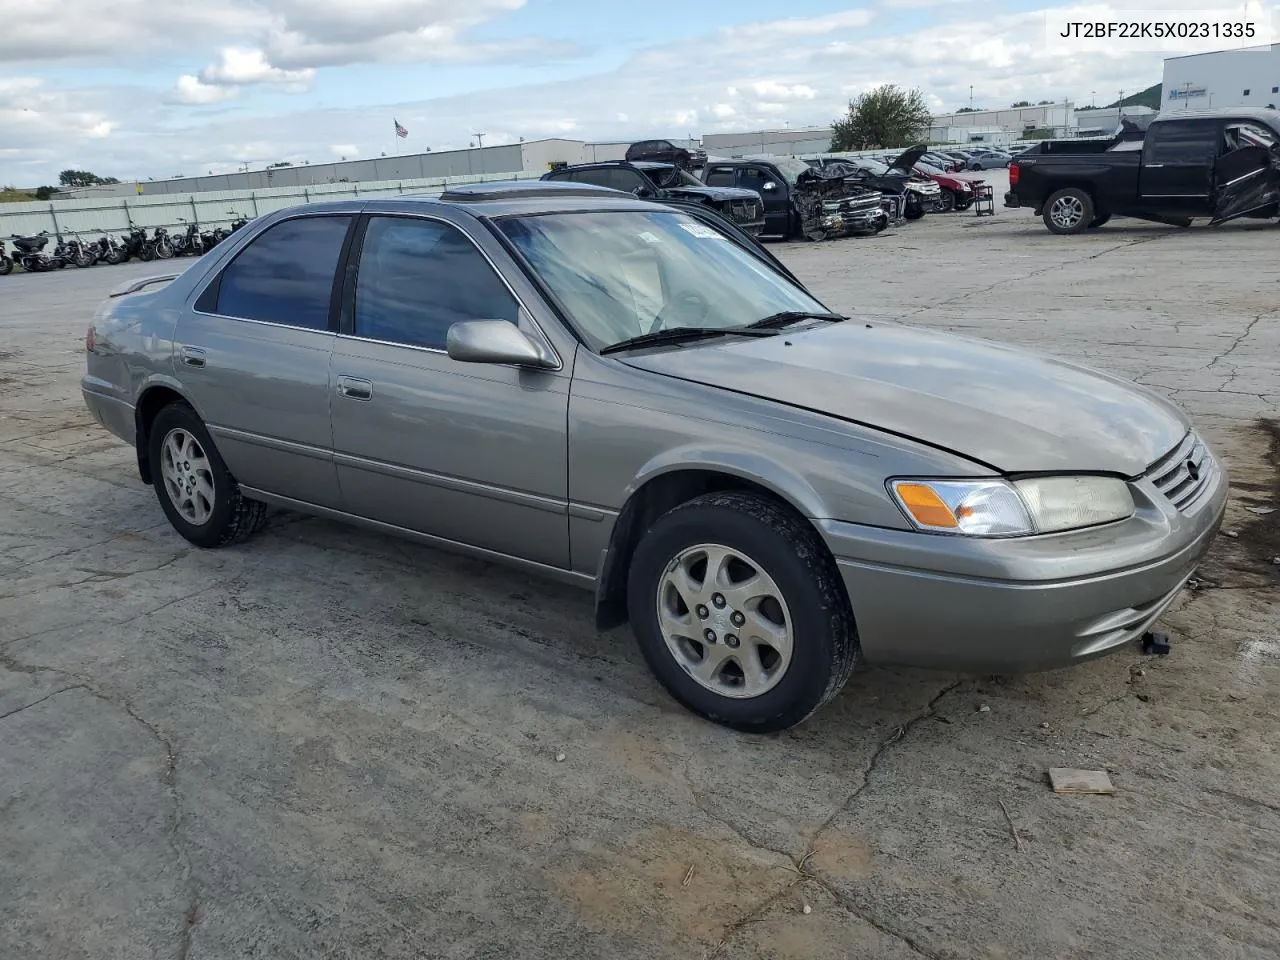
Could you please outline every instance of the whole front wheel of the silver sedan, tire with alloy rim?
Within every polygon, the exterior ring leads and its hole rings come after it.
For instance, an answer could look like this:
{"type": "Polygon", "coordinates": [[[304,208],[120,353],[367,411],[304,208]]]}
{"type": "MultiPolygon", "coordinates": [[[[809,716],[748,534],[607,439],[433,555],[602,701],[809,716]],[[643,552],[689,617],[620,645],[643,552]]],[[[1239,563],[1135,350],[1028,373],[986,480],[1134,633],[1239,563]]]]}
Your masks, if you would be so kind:
{"type": "Polygon", "coordinates": [[[733,730],[767,733],[800,723],[840,692],[858,662],[858,635],[844,586],[817,531],[786,507],[753,493],[705,494],[659,517],[631,558],[627,607],[640,650],[658,681],[694,713],[733,730]],[[731,580],[721,588],[727,596],[712,588],[703,590],[712,557],[737,558],[723,567],[730,577],[754,568],[756,582],[764,577],[765,599],[748,591],[735,598],[735,582],[745,581],[731,580]],[[684,594],[675,586],[681,567],[684,594]],[[695,576],[699,570],[700,579],[695,576]],[[684,596],[694,602],[692,609],[684,596]],[[722,607],[714,605],[714,596],[721,596],[722,607]],[[667,632],[660,608],[672,616],[667,632]],[[692,637],[676,632],[680,621],[692,637]],[[778,648],[744,643],[731,632],[749,631],[753,621],[762,631],[782,625],[781,632],[790,635],[790,659],[778,648]],[[716,644],[707,641],[704,630],[718,631],[716,644]],[[718,659],[707,678],[699,680],[692,671],[707,662],[708,652],[718,659]],[[742,666],[748,654],[754,664],[750,671],[742,666]],[[748,672],[760,685],[759,692],[742,692],[748,672]]]}

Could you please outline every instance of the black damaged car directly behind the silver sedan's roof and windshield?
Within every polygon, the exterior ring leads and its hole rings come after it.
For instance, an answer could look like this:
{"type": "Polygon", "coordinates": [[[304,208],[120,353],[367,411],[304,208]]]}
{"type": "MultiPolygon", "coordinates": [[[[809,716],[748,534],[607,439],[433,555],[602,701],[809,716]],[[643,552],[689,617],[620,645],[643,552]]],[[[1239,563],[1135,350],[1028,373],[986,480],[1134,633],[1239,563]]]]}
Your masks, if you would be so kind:
{"type": "Polygon", "coordinates": [[[596,187],[620,189],[641,200],[692,200],[709,206],[716,212],[751,234],[764,229],[764,204],[750,189],[709,187],[687,170],[675,164],[650,161],[628,163],[607,160],[596,164],[570,164],[543,174],[544,180],[590,183],[596,187]]]}

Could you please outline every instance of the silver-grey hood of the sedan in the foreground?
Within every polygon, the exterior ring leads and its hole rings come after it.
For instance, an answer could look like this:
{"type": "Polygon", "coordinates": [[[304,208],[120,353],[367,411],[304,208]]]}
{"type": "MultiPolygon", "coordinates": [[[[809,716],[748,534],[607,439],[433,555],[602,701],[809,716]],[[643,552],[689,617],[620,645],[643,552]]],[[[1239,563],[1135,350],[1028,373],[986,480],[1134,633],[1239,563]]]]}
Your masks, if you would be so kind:
{"type": "Polygon", "coordinates": [[[850,320],[700,340],[630,366],[826,413],[1007,474],[1137,476],[1187,434],[1146,388],[987,340],[850,320]]]}

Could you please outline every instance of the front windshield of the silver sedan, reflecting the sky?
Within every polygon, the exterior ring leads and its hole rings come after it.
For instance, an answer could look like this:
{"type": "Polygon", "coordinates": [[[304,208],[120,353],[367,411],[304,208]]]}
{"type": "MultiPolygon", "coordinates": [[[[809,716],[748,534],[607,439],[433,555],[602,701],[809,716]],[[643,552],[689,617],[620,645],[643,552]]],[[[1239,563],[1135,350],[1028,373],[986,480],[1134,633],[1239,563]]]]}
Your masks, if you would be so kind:
{"type": "Polygon", "coordinates": [[[728,330],[781,312],[829,312],[763,260],[676,210],[495,223],[595,349],[677,326],[728,330]]]}

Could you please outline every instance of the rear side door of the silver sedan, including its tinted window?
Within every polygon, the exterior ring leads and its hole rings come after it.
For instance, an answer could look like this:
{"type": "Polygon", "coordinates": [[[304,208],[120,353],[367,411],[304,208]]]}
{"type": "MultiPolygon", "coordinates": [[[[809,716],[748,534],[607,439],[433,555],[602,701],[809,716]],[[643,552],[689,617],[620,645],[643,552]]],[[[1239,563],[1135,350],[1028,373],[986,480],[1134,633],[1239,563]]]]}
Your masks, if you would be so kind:
{"type": "Polygon", "coordinates": [[[355,218],[301,215],[257,234],[178,320],[174,370],[244,486],[337,507],[329,430],[335,274],[355,218]]]}

